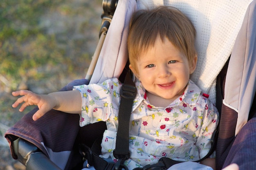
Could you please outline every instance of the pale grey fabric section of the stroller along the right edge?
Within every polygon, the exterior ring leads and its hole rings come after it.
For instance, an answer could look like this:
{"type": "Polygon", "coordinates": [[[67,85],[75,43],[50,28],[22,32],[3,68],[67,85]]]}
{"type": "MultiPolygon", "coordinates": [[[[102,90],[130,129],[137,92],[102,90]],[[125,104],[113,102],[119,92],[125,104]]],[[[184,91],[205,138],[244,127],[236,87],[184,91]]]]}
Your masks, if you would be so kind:
{"type": "Polygon", "coordinates": [[[238,113],[236,135],[246,124],[256,91],[256,1],[248,7],[229,61],[223,104],[238,113]]]}

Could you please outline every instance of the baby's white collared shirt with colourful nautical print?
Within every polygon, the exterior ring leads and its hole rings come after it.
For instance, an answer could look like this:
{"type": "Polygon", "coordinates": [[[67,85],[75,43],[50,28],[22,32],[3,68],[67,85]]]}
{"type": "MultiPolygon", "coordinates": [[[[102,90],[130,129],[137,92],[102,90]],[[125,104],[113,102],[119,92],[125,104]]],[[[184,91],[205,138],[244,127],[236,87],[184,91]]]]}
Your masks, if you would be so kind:
{"type": "MultiPolygon", "coordinates": [[[[166,108],[149,103],[141,82],[135,82],[137,96],[133,101],[129,127],[129,169],[157,163],[161,157],[177,161],[197,161],[207,155],[210,139],[218,125],[218,111],[207,95],[191,80],[184,91],[166,108]]],[[[112,157],[118,128],[118,111],[122,84],[108,79],[102,84],[74,86],[82,96],[80,126],[106,121],[101,151],[112,157]]]]}

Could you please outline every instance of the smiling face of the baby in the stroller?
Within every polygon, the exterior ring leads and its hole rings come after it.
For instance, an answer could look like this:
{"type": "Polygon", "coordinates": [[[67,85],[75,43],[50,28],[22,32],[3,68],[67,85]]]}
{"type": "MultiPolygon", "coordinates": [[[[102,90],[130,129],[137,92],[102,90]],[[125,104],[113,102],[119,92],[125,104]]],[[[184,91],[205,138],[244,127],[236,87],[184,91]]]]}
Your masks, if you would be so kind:
{"type": "Polygon", "coordinates": [[[167,38],[162,42],[158,37],[155,46],[139,56],[136,77],[151,96],[173,101],[184,93],[194,71],[190,65],[184,53],[167,38]]]}

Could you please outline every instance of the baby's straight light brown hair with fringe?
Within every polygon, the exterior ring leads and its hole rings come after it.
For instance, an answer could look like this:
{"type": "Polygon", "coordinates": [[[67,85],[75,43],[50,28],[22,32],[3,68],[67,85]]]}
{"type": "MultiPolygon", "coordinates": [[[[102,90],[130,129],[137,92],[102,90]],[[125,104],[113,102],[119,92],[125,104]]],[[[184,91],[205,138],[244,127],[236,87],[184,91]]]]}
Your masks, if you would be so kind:
{"type": "Polygon", "coordinates": [[[160,6],[136,11],[132,15],[128,35],[130,64],[137,72],[139,55],[154,46],[157,36],[162,41],[167,38],[191,62],[197,55],[195,35],[191,21],[174,7],[160,6]]]}

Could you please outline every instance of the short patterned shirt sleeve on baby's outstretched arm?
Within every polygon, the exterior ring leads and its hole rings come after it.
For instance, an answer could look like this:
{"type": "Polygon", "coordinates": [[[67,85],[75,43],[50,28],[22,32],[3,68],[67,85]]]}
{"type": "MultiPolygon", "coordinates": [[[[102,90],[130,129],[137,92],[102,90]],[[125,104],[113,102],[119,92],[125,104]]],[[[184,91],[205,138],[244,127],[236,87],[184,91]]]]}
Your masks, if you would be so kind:
{"type": "Polygon", "coordinates": [[[101,84],[74,86],[73,90],[78,90],[82,97],[80,126],[117,119],[121,86],[116,78],[101,84]]]}

